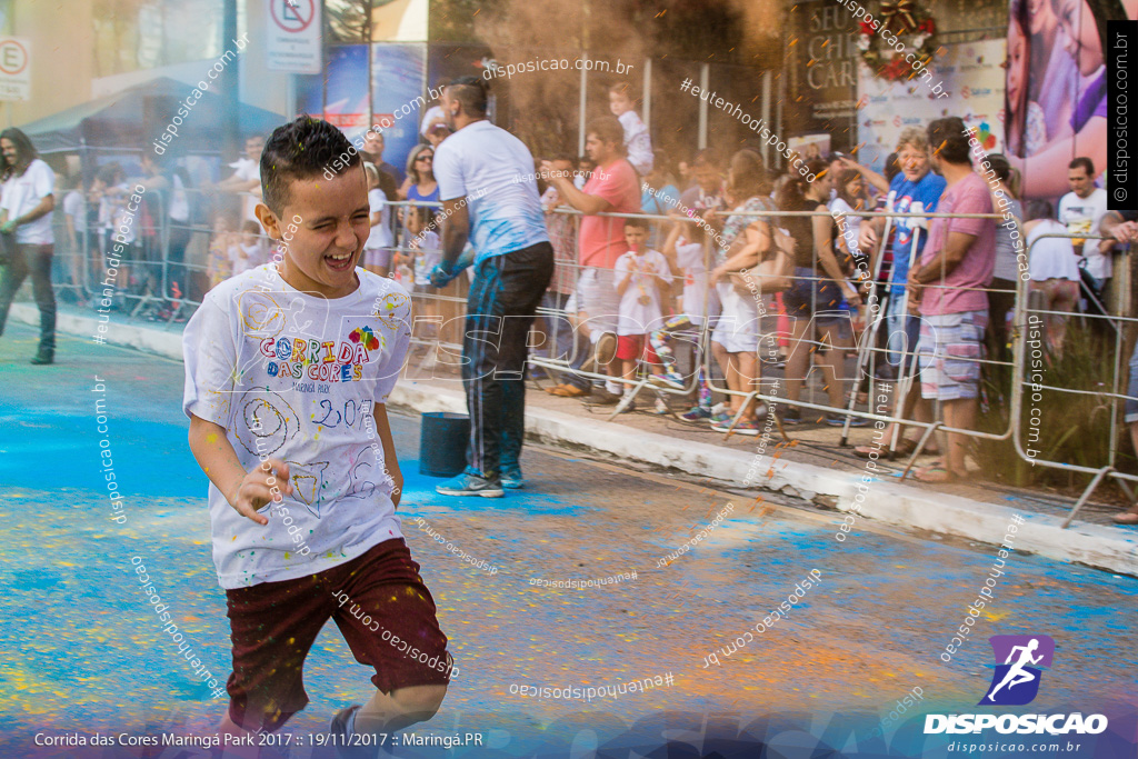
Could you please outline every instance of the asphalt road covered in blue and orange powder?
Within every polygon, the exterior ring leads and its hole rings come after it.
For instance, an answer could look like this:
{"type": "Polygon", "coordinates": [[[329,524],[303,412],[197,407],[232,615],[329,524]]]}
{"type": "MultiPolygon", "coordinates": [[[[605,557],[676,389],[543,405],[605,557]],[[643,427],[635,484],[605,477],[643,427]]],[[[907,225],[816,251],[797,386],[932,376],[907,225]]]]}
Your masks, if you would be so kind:
{"type": "MultiPolygon", "coordinates": [[[[33,338],[19,324],[0,338],[0,754],[31,756],[35,734],[205,734],[225,701],[178,655],[131,563],[145,562],[198,657],[228,676],[224,595],[209,558],[206,479],[185,443],[181,364],[63,338],[59,364],[31,366],[33,338]],[[105,495],[98,399],[125,523],[112,520],[105,495]]],[[[527,489],[446,498],[418,473],[418,419],[395,414],[393,426],[406,476],[404,533],[461,668],[443,710],[413,732],[469,732],[483,742],[412,749],[403,736],[396,756],[585,757],[597,746],[597,756],[642,756],[668,741],[667,756],[727,744],[758,756],[759,741],[772,757],[810,756],[818,744],[843,756],[885,756],[887,746],[955,756],[947,744],[959,736],[924,736],[921,715],[984,711],[975,704],[992,671],[988,637],[1029,634],[1052,636],[1055,659],[1030,707],[996,712],[1100,711],[1111,728],[1075,756],[1135,756],[1123,745],[1138,713],[1133,578],[1012,553],[995,601],[946,663],[940,654],[996,560],[990,546],[865,520],[839,542],[841,518],[809,504],[535,447],[522,460],[527,489]],[[704,539],[661,561],[720,513],[704,539]],[[533,581],[634,571],[591,588],[533,581]],[[775,619],[795,585],[800,597],[775,619]],[[646,692],[591,701],[521,690],[584,693],[645,678],[646,692]],[[915,703],[884,740],[868,737],[907,694],[915,703]]],[[[312,703],[286,733],[305,740],[323,729],[333,711],[368,696],[368,677],[325,627],[305,670],[312,703]]]]}

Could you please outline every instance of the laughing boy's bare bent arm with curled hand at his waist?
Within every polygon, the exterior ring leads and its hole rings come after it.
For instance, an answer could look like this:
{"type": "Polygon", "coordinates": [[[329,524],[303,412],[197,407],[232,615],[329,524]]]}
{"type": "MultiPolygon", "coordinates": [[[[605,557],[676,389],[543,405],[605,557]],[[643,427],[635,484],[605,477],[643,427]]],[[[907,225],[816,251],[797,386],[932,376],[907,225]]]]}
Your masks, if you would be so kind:
{"type": "MultiPolygon", "coordinates": [[[[377,416],[378,421],[378,416],[377,416]]],[[[384,415],[386,429],[387,415],[384,415]]],[[[390,430],[384,440],[384,449],[390,440],[390,430]]],[[[394,448],[394,446],[393,446],[394,448]]],[[[257,513],[257,509],[270,501],[280,501],[282,493],[291,495],[288,464],[279,459],[267,459],[253,471],[241,467],[237,452],[225,436],[225,428],[190,415],[190,451],[201,471],[206,473],[229,504],[242,517],[258,525],[267,525],[269,519],[257,513]]],[[[394,455],[394,452],[393,452],[394,455]]],[[[402,487],[402,477],[399,485],[402,487]]]]}

